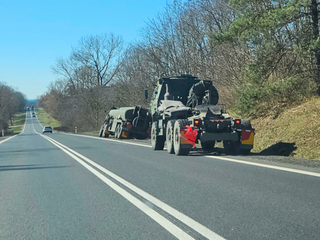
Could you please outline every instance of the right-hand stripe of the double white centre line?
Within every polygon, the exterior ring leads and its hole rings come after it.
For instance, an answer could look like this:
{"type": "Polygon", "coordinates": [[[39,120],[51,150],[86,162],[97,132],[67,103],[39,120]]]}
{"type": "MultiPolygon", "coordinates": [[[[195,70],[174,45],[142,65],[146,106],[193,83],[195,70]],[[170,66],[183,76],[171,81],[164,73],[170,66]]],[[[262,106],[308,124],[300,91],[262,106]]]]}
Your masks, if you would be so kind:
{"type": "MultiPolygon", "coordinates": [[[[41,135],[41,136],[43,136],[43,135],[41,135]]],[[[187,215],[179,212],[178,210],[176,210],[175,208],[167,205],[163,201],[157,199],[156,197],[154,197],[154,196],[150,195],[149,193],[143,191],[142,189],[138,188],[137,186],[135,186],[135,185],[131,184],[130,182],[124,180],[123,178],[121,178],[120,176],[114,174],[113,172],[105,169],[104,167],[100,166],[99,164],[95,163],[94,161],[90,160],[89,158],[87,158],[87,157],[81,155],[80,153],[72,150],[71,148],[61,144],[60,142],[52,139],[51,137],[48,137],[48,136],[45,136],[45,137],[50,139],[50,140],[52,140],[54,143],[58,144],[59,146],[64,147],[65,149],[67,149],[68,151],[72,152],[73,154],[81,157],[83,160],[87,161],[88,163],[90,163],[91,165],[95,166],[96,168],[98,168],[99,170],[104,172],[105,174],[109,175],[113,179],[117,180],[118,182],[120,182],[121,184],[126,186],[127,188],[131,189],[132,191],[134,191],[135,193],[139,194],[143,198],[145,198],[148,201],[152,202],[154,205],[158,206],[162,210],[166,211],[167,213],[171,214],[175,218],[179,219],[181,222],[183,222],[184,224],[186,224],[189,227],[193,228],[195,231],[199,232],[200,234],[202,234],[206,238],[208,238],[210,240],[224,239],[220,235],[216,234],[214,231],[208,229],[207,227],[203,226],[202,224],[198,223],[197,221],[193,220],[192,218],[188,217],[187,215]]]]}

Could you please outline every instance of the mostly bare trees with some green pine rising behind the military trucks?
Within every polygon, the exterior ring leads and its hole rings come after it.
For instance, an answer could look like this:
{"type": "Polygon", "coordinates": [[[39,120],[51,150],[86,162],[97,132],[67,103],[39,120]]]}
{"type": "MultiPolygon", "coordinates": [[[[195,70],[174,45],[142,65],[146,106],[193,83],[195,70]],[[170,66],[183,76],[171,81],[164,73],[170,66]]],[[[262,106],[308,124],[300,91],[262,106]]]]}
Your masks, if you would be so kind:
{"type": "Polygon", "coordinates": [[[82,37],[52,66],[41,105],[66,126],[97,129],[111,105],[144,105],[162,72],[212,79],[242,115],[278,112],[319,94],[318,0],[175,0],[124,43],[82,37]]]}

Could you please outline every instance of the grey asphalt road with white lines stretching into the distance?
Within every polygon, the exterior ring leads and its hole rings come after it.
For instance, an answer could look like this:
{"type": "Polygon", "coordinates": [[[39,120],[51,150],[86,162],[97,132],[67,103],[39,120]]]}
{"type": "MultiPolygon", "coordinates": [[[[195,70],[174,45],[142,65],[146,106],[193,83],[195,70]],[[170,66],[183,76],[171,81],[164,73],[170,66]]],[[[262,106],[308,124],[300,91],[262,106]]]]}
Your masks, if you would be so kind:
{"type": "Polygon", "coordinates": [[[0,142],[0,239],[320,239],[317,169],[41,128],[0,142]]]}

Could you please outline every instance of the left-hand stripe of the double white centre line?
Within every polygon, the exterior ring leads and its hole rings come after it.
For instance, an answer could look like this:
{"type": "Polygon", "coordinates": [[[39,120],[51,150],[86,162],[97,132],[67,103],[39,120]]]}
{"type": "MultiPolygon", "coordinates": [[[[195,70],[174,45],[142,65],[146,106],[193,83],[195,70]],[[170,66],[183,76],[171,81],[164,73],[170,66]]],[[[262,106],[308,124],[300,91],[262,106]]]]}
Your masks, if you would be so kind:
{"type": "MultiPolygon", "coordinates": [[[[39,134],[39,133],[38,133],[39,134]]],[[[153,220],[155,220],[157,223],[159,223],[163,228],[165,228],[167,231],[169,231],[172,235],[174,235],[176,238],[181,239],[181,240],[194,240],[193,237],[188,235],[186,232],[184,232],[182,229],[174,225],[171,221],[167,220],[165,217],[157,213],[155,210],[153,210],[151,207],[147,206],[145,203],[131,195],[129,192],[109,180],[107,177],[105,177],[103,174],[95,170],[93,167],[88,165],[86,162],[75,156],[74,154],[70,153],[63,147],[59,146],[55,142],[52,141],[51,138],[44,136],[40,134],[42,137],[50,141],[52,144],[56,145],[59,147],[62,151],[64,151],[66,154],[71,156],[73,159],[78,161],[81,165],[83,165],[86,169],[91,171],[94,175],[96,175],[98,178],[100,178],[102,181],[104,181],[107,185],[109,185],[113,190],[118,192],[120,195],[122,195],[125,199],[130,201],[133,205],[135,205],[137,208],[139,208],[141,211],[143,211],[145,214],[147,214],[149,217],[151,217],[153,220]]],[[[222,239],[222,238],[221,238],[222,239]]]]}

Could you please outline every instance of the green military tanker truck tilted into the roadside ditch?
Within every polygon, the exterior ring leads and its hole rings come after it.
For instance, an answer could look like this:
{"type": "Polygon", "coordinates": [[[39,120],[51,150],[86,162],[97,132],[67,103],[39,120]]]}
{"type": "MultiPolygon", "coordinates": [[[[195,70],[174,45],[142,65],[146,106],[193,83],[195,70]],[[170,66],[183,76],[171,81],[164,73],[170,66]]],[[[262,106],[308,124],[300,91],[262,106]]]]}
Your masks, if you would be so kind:
{"type": "Polygon", "coordinates": [[[99,136],[114,135],[115,138],[120,139],[145,139],[149,135],[150,119],[147,109],[141,106],[111,107],[101,126],[99,136]]]}

